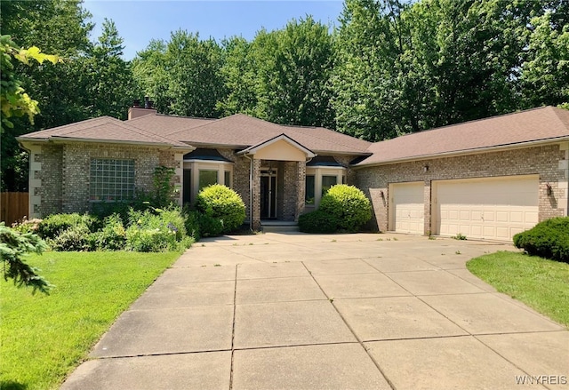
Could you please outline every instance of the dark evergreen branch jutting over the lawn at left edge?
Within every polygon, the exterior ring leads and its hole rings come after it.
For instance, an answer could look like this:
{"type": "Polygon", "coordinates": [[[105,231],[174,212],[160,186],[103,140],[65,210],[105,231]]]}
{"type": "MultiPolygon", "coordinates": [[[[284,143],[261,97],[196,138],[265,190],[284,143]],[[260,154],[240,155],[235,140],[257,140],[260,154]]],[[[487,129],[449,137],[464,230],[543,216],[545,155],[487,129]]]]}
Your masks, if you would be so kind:
{"type": "Polygon", "coordinates": [[[20,233],[0,222],[0,258],[4,266],[4,280],[12,279],[18,287],[32,287],[34,292],[48,293],[52,285],[37,275],[37,268],[30,267],[21,259],[30,252],[42,253],[45,248],[44,240],[39,236],[20,233]]]}

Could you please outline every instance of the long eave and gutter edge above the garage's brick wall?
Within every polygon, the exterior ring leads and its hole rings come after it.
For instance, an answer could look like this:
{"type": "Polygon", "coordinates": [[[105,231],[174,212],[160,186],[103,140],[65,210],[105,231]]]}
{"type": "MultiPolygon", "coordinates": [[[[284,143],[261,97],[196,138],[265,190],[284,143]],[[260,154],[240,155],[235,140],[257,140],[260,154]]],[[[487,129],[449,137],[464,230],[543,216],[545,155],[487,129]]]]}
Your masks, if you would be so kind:
{"type": "Polygon", "coordinates": [[[413,155],[410,157],[404,158],[397,158],[392,160],[381,161],[378,163],[357,163],[356,165],[352,165],[353,169],[362,169],[362,168],[369,168],[373,166],[380,166],[380,165],[390,165],[393,163],[410,163],[417,160],[435,160],[441,157],[451,157],[457,155],[477,155],[481,153],[489,153],[489,152],[500,152],[504,150],[510,149],[518,149],[518,148],[525,148],[525,147],[537,147],[546,144],[557,144],[560,142],[567,142],[569,141],[569,136],[557,137],[552,139],[536,139],[533,141],[527,142],[517,142],[512,144],[505,144],[505,145],[496,145],[493,147],[477,147],[473,149],[465,149],[465,150],[455,150],[451,152],[444,152],[444,153],[437,153],[434,155],[413,155]]]}

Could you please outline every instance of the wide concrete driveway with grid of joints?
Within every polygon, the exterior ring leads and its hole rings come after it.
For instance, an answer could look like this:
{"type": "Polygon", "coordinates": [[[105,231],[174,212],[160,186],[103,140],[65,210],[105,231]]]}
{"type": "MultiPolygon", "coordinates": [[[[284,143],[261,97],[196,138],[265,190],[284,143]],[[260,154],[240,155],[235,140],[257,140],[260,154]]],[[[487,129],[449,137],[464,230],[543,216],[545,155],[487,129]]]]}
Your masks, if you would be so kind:
{"type": "Polygon", "coordinates": [[[407,235],[204,240],[62,388],[567,389],[569,331],[465,267],[503,250],[407,235]]]}

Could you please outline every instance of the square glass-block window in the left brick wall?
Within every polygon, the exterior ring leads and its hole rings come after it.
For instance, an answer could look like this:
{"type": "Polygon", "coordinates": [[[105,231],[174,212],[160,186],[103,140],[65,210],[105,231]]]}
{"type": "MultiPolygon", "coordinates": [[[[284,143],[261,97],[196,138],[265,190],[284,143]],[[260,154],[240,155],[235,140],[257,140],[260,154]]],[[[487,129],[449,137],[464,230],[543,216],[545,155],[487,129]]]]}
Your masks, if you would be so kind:
{"type": "Polygon", "coordinates": [[[93,158],[89,199],[122,201],[134,197],[134,160],[93,158]]]}

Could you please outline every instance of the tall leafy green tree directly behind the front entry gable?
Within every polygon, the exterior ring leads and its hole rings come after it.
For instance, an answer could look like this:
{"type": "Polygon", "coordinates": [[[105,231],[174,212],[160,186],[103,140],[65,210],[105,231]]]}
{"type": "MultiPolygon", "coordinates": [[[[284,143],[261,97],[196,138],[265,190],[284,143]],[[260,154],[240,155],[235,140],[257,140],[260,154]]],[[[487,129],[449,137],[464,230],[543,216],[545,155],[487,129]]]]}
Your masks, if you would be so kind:
{"type": "Polygon", "coordinates": [[[276,123],[332,126],[333,40],[328,27],[308,16],[263,35],[253,42],[263,58],[257,61],[260,112],[276,123]]]}

